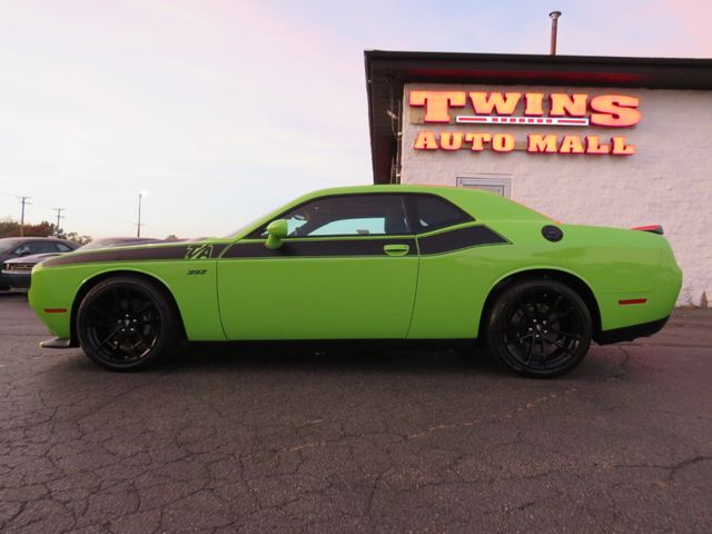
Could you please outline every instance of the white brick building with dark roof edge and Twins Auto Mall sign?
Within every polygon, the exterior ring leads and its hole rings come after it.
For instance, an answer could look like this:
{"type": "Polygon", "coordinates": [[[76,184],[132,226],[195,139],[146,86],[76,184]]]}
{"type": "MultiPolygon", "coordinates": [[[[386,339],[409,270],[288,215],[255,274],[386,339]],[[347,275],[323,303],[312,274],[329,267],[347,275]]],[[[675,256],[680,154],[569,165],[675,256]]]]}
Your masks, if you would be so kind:
{"type": "Polygon", "coordinates": [[[366,76],[376,184],[660,224],[684,273],[678,304],[711,299],[712,61],[369,51],[366,76]]]}

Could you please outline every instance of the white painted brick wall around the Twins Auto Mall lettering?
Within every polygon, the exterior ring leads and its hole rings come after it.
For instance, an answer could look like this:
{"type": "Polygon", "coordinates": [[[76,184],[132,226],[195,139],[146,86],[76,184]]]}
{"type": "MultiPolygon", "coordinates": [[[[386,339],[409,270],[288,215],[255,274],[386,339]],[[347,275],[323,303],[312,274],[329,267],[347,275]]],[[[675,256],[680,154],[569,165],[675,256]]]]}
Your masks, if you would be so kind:
{"type": "MultiPolygon", "coordinates": [[[[411,83],[403,101],[403,184],[454,186],[457,177],[505,176],[513,200],[565,222],[624,228],[661,224],[683,270],[678,304],[712,300],[712,91],[411,83]],[[631,95],[641,100],[642,119],[633,128],[423,125],[423,109],[408,108],[412,89],[631,95]],[[422,130],[513,134],[517,150],[415,150],[422,130]],[[528,154],[520,145],[530,132],[600,135],[602,140],[622,135],[636,154],[528,154]]],[[[455,111],[472,113],[469,108],[455,111]]]]}

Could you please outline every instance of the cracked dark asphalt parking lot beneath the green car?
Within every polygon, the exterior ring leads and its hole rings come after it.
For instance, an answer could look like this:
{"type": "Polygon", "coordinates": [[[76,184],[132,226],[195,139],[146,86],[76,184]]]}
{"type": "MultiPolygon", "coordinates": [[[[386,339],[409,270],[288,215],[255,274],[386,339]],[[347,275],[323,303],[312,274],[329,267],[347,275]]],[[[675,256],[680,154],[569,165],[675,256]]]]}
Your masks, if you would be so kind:
{"type": "Polygon", "coordinates": [[[111,374],[0,295],[0,531],[712,532],[712,310],[518,378],[462,352],[111,374]]]}

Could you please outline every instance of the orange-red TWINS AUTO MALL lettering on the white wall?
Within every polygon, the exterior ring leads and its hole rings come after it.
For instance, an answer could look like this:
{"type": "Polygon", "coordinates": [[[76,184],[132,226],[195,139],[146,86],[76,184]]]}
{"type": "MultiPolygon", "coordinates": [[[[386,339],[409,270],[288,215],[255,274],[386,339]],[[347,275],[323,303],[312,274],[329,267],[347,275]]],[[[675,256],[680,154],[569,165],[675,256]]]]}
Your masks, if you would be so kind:
{"type": "Polygon", "coordinates": [[[454,118],[456,125],[485,126],[479,131],[419,131],[416,150],[511,152],[515,136],[493,132],[491,127],[522,126],[532,129],[526,135],[527,152],[631,156],[635,147],[624,136],[541,134],[540,127],[631,128],[641,120],[640,99],[626,95],[413,90],[409,106],[423,108],[424,125],[452,123],[454,118]]]}

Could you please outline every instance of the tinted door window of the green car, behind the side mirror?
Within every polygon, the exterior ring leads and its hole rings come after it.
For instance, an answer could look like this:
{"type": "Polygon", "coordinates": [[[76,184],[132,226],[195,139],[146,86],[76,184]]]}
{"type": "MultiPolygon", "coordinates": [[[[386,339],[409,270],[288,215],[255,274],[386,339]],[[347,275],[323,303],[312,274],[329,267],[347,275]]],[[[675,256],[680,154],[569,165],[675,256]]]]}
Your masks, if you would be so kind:
{"type": "MultiPolygon", "coordinates": [[[[284,214],[289,237],[387,236],[409,234],[399,195],[324,197],[284,214]]],[[[260,234],[264,234],[264,229],[260,234]]]]}

